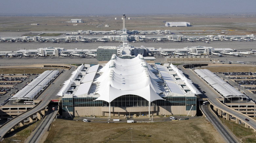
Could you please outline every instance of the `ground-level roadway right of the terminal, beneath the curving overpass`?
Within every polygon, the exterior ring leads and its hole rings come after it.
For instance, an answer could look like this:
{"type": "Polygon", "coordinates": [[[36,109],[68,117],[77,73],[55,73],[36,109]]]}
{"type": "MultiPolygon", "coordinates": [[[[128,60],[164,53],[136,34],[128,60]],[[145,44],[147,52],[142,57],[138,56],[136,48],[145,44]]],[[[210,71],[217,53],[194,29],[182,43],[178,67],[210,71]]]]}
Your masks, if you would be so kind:
{"type": "Polygon", "coordinates": [[[211,123],[218,129],[219,133],[225,138],[225,140],[229,143],[239,143],[233,133],[229,132],[229,129],[225,128],[223,123],[217,117],[217,115],[210,108],[210,104],[201,105],[200,107],[205,113],[206,117],[211,121],[211,123]]]}

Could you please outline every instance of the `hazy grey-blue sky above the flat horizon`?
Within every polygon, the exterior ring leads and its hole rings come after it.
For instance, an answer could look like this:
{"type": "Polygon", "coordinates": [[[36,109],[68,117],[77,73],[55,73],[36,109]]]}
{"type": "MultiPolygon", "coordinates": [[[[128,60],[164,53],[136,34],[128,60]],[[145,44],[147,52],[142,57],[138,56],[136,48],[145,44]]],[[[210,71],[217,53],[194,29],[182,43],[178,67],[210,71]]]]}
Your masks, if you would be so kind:
{"type": "Polygon", "coordinates": [[[1,0],[0,14],[256,13],[256,0],[1,0]]]}

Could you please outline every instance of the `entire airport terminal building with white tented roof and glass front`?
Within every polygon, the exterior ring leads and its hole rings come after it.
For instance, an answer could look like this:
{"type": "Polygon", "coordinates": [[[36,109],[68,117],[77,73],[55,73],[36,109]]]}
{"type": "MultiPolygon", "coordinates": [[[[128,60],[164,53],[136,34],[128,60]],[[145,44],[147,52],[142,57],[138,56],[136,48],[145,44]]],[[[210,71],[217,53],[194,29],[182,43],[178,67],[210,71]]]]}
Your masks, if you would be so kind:
{"type": "Polygon", "coordinates": [[[64,117],[195,116],[197,94],[176,66],[150,65],[140,54],[132,59],[114,54],[106,64],[81,65],[58,93],[64,117]]]}

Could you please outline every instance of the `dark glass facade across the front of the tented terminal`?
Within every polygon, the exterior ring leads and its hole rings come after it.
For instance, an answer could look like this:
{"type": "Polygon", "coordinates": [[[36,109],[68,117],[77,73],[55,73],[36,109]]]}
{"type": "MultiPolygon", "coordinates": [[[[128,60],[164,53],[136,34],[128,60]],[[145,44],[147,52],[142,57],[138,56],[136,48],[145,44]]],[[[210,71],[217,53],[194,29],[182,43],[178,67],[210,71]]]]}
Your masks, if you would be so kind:
{"type": "MultiPolygon", "coordinates": [[[[73,98],[63,98],[62,109],[67,111],[66,106],[70,112],[73,111],[74,107],[94,107],[94,106],[109,106],[109,103],[106,101],[95,101],[96,97],[75,97],[73,98]]],[[[185,97],[185,96],[170,96],[163,97],[165,100],[156,100],[151,102],[151,106],[186,106],[186,110],[196,110],[197,99],[195,97],[185,97]]],[[[137,95],[123,95],[111,103],[111,106],[114,107],[140,107],[148,106],[148,101],[144,98],[137,95]]]]}

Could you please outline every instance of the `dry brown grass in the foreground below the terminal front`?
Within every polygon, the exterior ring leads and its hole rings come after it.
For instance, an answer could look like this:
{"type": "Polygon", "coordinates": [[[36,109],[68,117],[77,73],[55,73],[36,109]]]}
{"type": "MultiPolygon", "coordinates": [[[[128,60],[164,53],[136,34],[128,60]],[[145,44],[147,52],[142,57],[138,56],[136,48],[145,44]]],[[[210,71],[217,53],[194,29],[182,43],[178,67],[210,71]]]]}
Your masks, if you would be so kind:
{"type": "Polygon", "coordinates": [[[57,119],[45,143],[107,142],[168,143],[224,142],[204,118],[153,123],[93,123],[57,119]],[[132,129],[130,129],[132,128],[132,129]]]}

